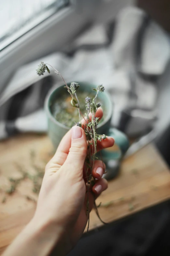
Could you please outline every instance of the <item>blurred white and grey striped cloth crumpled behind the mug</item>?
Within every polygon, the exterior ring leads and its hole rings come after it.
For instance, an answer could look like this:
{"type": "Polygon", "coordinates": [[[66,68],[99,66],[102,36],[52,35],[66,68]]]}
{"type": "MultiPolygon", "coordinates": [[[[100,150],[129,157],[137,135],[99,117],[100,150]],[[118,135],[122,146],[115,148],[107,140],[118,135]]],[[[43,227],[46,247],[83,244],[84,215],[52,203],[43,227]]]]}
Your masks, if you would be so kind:
{"type": "Polygon", "coordinates": [[[89,28],[67,51],[20,67],[0,95],[0,139],[17,132],[47,131],[44,100],[52,86],[63,82],[52,70],[38,77],[35,70],[40,61],[56,67],[67,82],[103,83],[113,102],[112,125],[129,136],[147,133],[157,117],[157,78],[169,60],[170,46],[163,33],[139,9],[125,9],[116,21],[89,28]],[[155,50],[161,55],[154,65],[155,50]],[[146,67],[150,74],[145,73],[146,67]]]}

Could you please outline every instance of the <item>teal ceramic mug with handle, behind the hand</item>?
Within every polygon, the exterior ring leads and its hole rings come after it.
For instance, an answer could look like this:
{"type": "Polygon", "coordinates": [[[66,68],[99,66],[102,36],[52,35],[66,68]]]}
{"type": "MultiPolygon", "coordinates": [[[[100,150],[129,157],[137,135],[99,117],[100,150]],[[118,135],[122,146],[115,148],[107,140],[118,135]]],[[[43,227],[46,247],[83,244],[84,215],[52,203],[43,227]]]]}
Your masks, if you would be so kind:
{"type": "MultiPolygon", "coordinates": [[[[78,94],[85,92],[87,96],[89,96],[89,94],[95,95],[95,92],[92,90],[96,87],[95,85],[87,82],[78,82],[78,84],[80,85],[78,94]]],[[[68,86],[69,85],[70,83],[68,83],[68,86]]],[[[64,124],[58,122],[53,116],[54,103],[64,94],[68,94],[67,90],[64,88],[64,85],[55,89],[52,88],[45,100],[45,111],[48,118],[48,135],[55,149],[57,149],[61,139],[70,129],[64,124]]],[[[113,108],[109,94],[106,91],[104,93],[99,93],[97,99],[97,102],[103,103],[103,106],[101,107],[104,111],[104,117],[99,122],[97,133],[106,134],[107,136],[113,137],[115,140],[115,145],[113,147],[101,151],[102,159],[106,163],[106,178],[110,179],[115,177],[118,173],[119,163],[129,147],[129,141],[124,133],[110,126],[113,108]]],[[[70,108],[72,108],[71,104],[70,108]]]]}

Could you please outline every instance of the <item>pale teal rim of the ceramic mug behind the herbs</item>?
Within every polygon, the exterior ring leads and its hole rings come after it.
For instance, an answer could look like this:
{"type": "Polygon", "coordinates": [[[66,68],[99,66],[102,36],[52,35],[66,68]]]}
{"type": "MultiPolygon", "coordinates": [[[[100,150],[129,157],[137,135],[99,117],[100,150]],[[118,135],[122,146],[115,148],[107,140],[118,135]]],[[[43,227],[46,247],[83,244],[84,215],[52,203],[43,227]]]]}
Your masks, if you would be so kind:
{"type": "MultiPolygon", "coordinates": [[[[83,81],[80,81],[80,82],[77,82],[77,83],[79,83],[79,84],[81,84],[81,83],[86,83],[88,86],[90,86],[90,87],[96,87],[95,85],[93,86],[93,84],[91,84],[91,83],[89,83],[89,82],[83,82],[83,81]]],[[[48,94],[47,94],[47,96],[46,96],[46,99],[45,99],[45,111],[46,111],[46,113],[47,113],[47,115],[48,115],[48,117],[50,118],[50,120],[53,122],[53,123],[55,123],[56,125],[59,125],[60,127],[62,127],[62,128],[65,128],[65,129],[67,129],[67,130],[70,130],[71,129],[71,127],[68,127],[68,126],[65,126],[64,124],[62,124],[62,123],[60,123],[59,121],[57,121],[55,118],[54,118],[54,116],[53,116],[53,114],[51,113],[51,111],[50,111],[50,106],[49,106],[49,103],[50,103],[50,97],[52,96],[52,94],[54,93],[54,92],[56,92],[58,89],[60,89],[60,88],[63,88],[64,87],[64,84],[63,85],[60,85],[59,87],[56,87],[55,85],[49,90],[49,92],[48,92],[48,94]]],[[[107,110],[107,112],[106,112],[106,118],[101,122],[101,123],[99,123],[99,125],[98,125],[98,127],[97,128],[100,128],[100,127],[102,127],[103,125],[105,125],[108,121],[109,121],[109,119],[111,118],[111,116],[112,116],[112,102],[111,102],[111,99],[110,99],[110,96],[109,96],[109,94],[105,91],[104,92],[104,94],[105,94],[105,96],[106,96],[106,100],[108,101],[108,103],[109,103],[109,108],[108,108],[108,110],[107,110]]]]}

